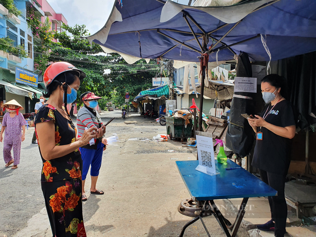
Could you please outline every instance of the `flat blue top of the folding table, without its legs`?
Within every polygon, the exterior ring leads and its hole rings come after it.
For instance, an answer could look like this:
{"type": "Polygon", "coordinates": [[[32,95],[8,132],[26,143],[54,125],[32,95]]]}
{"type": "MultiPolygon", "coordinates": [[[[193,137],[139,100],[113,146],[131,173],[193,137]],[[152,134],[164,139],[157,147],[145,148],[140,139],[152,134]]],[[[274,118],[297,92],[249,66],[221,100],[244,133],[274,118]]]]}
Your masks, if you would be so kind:
{"type": "Polygon", "coordinates": [[[225,168],[238,167],[229,159],[225,164],[217,163],[215,160],[220,174],[212,176],[195,170],[198,165],[197,160],[176,161],[176,165],[194,201],[268,197],[277,194],[275,189],[263,183],[246,169],[226,170],[225,168]]]}

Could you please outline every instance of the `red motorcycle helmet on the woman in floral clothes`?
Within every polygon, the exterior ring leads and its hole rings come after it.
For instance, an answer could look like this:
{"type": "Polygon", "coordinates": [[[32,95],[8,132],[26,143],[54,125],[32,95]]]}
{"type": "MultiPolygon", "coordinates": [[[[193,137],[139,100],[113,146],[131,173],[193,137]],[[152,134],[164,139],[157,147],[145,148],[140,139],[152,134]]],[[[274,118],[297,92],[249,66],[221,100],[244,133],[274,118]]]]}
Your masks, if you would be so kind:
{"type": "Polygon", "coordinates": [[[43,81],[44,81],[45,86],[47,87],[48,85],[50,85],[53,82],[53,80],[56,78],[56,76],[66,71],[78,72],[79,74],[78,77],[80,80],[86,77],[86,73],[74,67],[72,64],[67,63],[67,62],[56,62],[48,66],[48,68],[46,68],[44,72],[43,81]]]}

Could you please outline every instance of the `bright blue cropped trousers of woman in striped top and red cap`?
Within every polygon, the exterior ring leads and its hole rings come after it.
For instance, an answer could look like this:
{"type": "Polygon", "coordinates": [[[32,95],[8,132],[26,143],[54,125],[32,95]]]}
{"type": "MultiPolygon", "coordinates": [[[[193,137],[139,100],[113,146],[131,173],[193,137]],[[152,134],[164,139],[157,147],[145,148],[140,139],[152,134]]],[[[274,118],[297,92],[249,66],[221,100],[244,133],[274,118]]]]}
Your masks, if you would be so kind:
{"type": "Polygon", "coordinates": [[[99,142],[97,145],[97,150],[79,148],[82,158],[82,180],[86,180],[89,167],[91,176],[98,176],[102,163],[104,144],[99,142]]]}

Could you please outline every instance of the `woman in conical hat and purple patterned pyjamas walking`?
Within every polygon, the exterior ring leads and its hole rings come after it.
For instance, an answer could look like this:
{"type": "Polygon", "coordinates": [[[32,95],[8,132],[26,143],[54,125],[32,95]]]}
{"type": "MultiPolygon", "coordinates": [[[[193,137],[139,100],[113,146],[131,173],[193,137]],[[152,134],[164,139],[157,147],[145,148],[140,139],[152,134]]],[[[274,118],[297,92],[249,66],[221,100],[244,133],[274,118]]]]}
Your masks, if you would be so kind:
{"type": "Polygon", "coordinates": [[[17,169],[20,163],[21,142],[25,139],[25,125],[26,121],[19,110],[23,107],[16,101],[12,100],[2,105],[3,111],[7,110],[2,120],[2,127],[0,133],[0,142],[3,141],[3,159],[5,167],[9,167],[12,163],[11,169],[17,169]],[[21,133],[21,128],[23,133],[21,133]],[[2,134],[4,133],[4,139],[2,134]],[[11,150],[13,148],[12,158],[11,150]]]}

